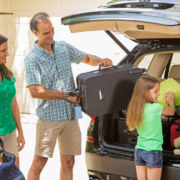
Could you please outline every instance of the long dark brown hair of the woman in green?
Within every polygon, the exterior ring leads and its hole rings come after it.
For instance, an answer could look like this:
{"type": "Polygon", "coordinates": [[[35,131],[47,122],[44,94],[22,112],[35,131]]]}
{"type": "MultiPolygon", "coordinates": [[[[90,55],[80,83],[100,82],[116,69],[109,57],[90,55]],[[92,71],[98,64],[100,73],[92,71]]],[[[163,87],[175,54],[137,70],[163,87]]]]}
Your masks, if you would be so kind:
{"type": "MultiPolygon", "coordinates": [[[[1,35],[0,34],[0,46],[7,42],[8,41],[8,38],[6,38],[5,36],[1,35]]],[[[11,78],[13,78],[13,73],[8,69],[8,67],[6,66],[6,64],[1,64],[1,67],[2,67],[2,71],[3,71],[3,74],[4,76],[8,79],[8,80],[11,80],[11,78]]]]}

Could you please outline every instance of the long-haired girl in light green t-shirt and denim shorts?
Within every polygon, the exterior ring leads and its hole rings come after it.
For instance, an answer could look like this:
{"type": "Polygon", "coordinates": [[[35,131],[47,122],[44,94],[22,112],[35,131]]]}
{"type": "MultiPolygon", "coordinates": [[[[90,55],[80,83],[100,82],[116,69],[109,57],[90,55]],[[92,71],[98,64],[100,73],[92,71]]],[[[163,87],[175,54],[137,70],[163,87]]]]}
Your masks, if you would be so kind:
{"type": "Polygon", "coordinates": [[[138,180],[160,180],[162,173],[162,123],[161,114],[174,115],[174,93],[167,92],[164,99],[169,108],[157,104],[160,84],[151,76],[140,77],[127,111],[127,126],[137,129],[135,165],[138,180]]]}

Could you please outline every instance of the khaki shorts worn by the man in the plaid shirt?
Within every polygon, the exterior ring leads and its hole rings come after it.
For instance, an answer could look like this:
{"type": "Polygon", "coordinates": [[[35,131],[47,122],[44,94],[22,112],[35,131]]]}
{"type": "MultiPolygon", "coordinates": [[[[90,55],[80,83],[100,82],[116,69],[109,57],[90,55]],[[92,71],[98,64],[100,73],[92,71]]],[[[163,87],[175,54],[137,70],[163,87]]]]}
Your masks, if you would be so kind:
{"type": "Polygon", "coordinates": [[[81,154],[81,132],[77,119],[51,121],[39,118],[36,125],[35,154],[52,158],[58,139],[60,154],[81,154]]]}

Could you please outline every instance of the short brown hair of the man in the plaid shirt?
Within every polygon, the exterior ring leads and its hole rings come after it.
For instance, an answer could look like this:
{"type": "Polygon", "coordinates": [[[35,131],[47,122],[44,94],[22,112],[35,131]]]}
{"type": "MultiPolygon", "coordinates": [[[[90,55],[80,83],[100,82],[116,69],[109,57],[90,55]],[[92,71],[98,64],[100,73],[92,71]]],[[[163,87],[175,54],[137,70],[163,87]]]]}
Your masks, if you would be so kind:
{"type": "Polygon", "coordinates": [[[31,19],[31,22],[30,22],[30,28],[31,28],[31,31],[37,31],[39,32],[39,29],[37,28],[37,25],[40,23],[40,22],[48,22],[50,21],[49,19],[49,15],[45,12],[39,12],[37,14],[35,14],[32,19],[31,19]]]}

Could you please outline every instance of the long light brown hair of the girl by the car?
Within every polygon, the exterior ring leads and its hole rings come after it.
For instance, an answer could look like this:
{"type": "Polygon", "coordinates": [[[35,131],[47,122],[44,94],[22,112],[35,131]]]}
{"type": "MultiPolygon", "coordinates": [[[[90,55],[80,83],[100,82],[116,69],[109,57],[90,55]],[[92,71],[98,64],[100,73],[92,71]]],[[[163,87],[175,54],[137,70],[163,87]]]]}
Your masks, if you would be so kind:
{"type": "Polygon", "coordinates": [[[130,130],[139,128],[139,125],[142,126],[144,104],[151,102],[148,91],[153,89],[156,83],[159,81],[148,75],[141,76],[137,80],[127,110],[126,124],[130,130]]]}

